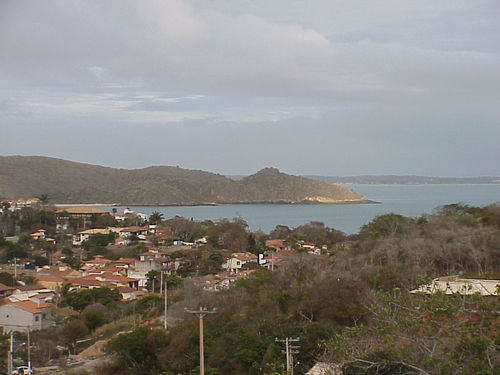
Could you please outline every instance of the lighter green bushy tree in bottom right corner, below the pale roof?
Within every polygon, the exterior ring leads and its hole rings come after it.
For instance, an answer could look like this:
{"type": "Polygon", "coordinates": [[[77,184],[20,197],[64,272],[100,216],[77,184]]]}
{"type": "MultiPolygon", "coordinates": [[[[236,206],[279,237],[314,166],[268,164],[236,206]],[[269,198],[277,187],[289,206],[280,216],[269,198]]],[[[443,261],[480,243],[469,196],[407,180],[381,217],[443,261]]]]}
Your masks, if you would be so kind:
{"type": "Polygon", "coordinates": [[[480,296],[377,293],[364,325],[345,327],[324,346],[343,373],[488,374],[500,366],[497,313],[480,296]]]}

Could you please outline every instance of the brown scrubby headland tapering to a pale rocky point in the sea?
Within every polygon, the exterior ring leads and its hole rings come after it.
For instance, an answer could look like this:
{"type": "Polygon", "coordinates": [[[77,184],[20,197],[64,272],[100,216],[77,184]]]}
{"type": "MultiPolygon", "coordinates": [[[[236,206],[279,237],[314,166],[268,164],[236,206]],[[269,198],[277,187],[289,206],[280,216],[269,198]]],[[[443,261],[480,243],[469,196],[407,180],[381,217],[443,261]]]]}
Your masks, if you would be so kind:
{"type": "Polygon", "coordinates": [[[129,170],[43,156],[0,156],[0,198],[40,194],[57,203],[123,205],[370,202],[345,187],[275,168],[234,181],[170,166],[129,170]]]}

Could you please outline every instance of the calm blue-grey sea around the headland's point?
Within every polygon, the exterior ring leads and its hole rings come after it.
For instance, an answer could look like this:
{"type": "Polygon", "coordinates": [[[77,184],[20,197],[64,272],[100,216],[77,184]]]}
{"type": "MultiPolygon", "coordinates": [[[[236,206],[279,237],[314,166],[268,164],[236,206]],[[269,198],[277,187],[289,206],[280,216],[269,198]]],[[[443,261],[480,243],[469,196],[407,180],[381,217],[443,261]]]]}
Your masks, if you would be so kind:
{"type": "MultiPolygon", "coordinates": [[[[441,205],[465,203],[484,206],[500,201],[500,185],[349,185],[364,197],[379,204],[353,205],[221,205],[221,206],[134,206],[131,209],[145,214],[161,212],[164,217],[182,216],[194,220],[218,220],[240,217],[252,231],[268,233],[278,224],[296,227],[310,221],[352,234],[375,216],[394,212],[417,217],[441,205]]],[[[101,207],[111,211],[112,207],[101,207]]],[[[118,211],[123,206],[115,207],[118,211]]]]}

